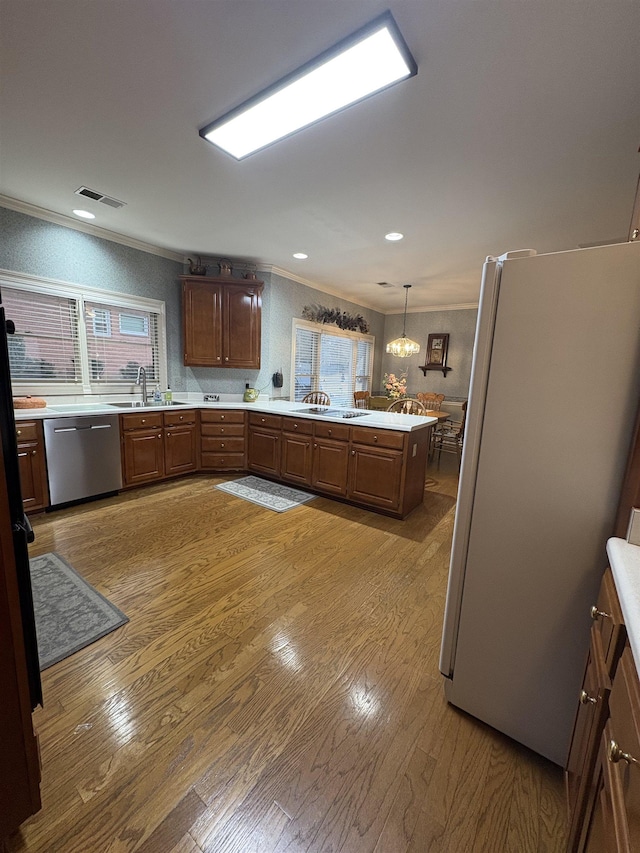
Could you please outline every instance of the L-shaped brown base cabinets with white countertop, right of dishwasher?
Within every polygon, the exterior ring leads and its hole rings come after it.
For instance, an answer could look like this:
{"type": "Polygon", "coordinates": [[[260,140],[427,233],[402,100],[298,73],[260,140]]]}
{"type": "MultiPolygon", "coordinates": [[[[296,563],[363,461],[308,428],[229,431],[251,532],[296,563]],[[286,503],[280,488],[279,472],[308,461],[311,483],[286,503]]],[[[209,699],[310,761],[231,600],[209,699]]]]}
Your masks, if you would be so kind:
{"type": "MultiPolygon", "coordinates": [[[[38,435],[38,422],[48,418],[118,412],[124,488],[192,472],[251,471],[395,518],[422,503],[434,418],[191,396],[171,405],[53,404],[17,410],[16,424],[18,431],[32,424],[38,435]]],[[[46,447],[37,450],[46,455],[46,447]]]]}

